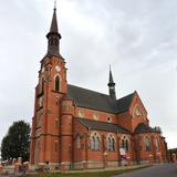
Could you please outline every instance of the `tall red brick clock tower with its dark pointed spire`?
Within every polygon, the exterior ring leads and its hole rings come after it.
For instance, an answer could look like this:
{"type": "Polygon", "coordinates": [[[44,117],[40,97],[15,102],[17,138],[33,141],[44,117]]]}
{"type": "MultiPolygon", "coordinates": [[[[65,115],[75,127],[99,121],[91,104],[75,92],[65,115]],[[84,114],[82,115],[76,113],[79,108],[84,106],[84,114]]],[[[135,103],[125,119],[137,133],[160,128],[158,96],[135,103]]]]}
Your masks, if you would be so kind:
{"type": "Polygon", "coordinates": [[[46,39],[48,52],[41,61],[32,118],[30,163],[35,165],[60,162],[60,102],[67,92],[67,83],[65,61],[60,54],[55,7],[46,39]]]}

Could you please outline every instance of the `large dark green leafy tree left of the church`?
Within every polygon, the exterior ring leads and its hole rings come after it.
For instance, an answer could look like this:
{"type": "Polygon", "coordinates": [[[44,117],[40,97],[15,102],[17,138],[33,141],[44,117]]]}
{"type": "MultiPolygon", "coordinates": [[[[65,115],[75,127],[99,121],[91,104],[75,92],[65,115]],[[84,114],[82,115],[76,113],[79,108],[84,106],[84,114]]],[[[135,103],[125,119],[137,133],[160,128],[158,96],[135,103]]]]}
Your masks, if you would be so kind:
{"type": "Polygon", "coordinates": [[[22,157],[22,160],[27,162],[29,160],[29,147],[30,124],[24,121],[14,122],[1,143],[2,159],[22,157]]]}

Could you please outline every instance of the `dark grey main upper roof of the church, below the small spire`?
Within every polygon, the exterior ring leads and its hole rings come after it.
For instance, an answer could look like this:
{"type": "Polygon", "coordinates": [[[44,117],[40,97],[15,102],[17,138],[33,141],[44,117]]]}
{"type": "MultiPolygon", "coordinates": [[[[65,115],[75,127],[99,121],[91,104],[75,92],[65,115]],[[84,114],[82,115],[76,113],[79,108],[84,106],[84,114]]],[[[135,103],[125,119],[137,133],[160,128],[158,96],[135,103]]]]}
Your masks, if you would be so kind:
{"type": "Polygon", "coordinates": [[[133,94],[114,101],[110,95],[95,91],[82,88],[74,85],[67,85],[67,96],[81,107],[104,111],[108,113],[122,113],[129,108],[133,94]]]}

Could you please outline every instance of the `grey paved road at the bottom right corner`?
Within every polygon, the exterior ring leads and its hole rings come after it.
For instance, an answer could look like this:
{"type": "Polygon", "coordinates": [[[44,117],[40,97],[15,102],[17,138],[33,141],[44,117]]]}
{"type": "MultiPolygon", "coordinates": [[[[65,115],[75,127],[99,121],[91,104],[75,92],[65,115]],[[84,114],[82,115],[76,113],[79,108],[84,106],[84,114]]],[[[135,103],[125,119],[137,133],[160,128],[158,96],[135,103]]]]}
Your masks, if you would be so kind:
{"type": "Polygon", "coordinates": [[[177,177],[177,164],[155,165],[133,173],[114,177],[177,177]]]}

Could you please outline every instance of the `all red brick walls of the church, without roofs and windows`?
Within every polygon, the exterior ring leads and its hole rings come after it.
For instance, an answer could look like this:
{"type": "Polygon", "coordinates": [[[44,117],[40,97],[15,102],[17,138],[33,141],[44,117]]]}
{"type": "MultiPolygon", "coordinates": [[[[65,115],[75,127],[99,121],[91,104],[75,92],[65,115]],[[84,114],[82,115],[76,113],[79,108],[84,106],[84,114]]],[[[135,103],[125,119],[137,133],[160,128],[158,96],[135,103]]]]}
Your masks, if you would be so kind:
{"type": "Polygon", "coordinates": [[[107,162],[118,162],[119,160],[119,147],[121,139],[126,136],[129,143],[129,150],[126,152],[126,156],[129,157],[132,162],[136,160],[149,160],[149,155],[153,159],[157,158],[157,153],[159,158],[166,159],[166,143],[159,134],[136,134],[136,135],[124,135],[119,133],[112,133],[115,137],[116,146],[114,152],[106,149],[106,136],[110,132],[96,131],[101,137],[100,149],[91,149],[90,137],[94,131],[87,129],[81,125],[75,117],[81,116],[83,118],[94,119],[97,115],[97,121],[106,122],[111,124],[118,124],[129,132],[134,132],[139,123],[145,123],[148,125],[147,112],[138,96],[137,93],[134,94],[133,102],[127,112],[121,113],[118,115],[95,111],[91,108],[76,107],[73,106],[72,101],[65,97],[67,90],[66,84],[66,70],[64,67],[63,60],[59,59],[44,59],[42,65],[48,67],[48,71],[39,74],[39,82],[41,77],[45,77],[44,92],[41,94],[43,96],[43,105],[40,107],[42,111],[41,124],[39,124],[39,94],[40,85],[35,90],[35,103],[34,103],[34,116],[32,121],[32,140],[31,140],[31,154],[30,162],[34,164],[35,160],[35,144],[39,142],[39,163],[44,163],[49,160],[50,163],[73,163],[73,162],[104,162],[105,155],[107,162]],[[60,64],[61,71],[58,73],[55,71],[55,65],[60,64]],[[51,70],[52,69],[52,70],[51,70]],[[59,74],[61,79],[61,91],[54,91],[54,77],[59,74]],[[139,107],[142,115],[136,115],[135,110],[139,107]],[[110,121],[107,118],[111,118],[110,121]],[[38,133],[38,135],[37,135],[38,133]],[[77,148],[76,136],[81,136],[81,147],[77,148]],[[146,152],[144,145],[144,137],[149,136],[152,139],[152,150],[146,152]],[[160,139],[159,152],[156,150],[154,137],[160,139]]]}

